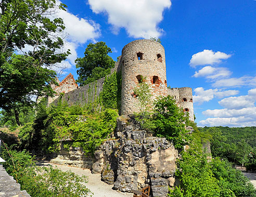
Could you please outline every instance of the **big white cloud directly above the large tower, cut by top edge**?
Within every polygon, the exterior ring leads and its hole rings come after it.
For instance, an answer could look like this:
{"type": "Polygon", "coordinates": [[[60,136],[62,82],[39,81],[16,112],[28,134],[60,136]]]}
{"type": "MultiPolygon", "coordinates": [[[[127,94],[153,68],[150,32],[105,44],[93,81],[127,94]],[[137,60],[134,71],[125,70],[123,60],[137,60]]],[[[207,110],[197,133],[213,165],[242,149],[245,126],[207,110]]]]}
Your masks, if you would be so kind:
{"type": "Polygon", "coordinates": [[[171,7],[170,0],[88,0],[96,14],[108,15],[113,29],[125,28],[129,36],[160,37],[163,30],[157,25],[163,19],[163,10],[171,7]]]}

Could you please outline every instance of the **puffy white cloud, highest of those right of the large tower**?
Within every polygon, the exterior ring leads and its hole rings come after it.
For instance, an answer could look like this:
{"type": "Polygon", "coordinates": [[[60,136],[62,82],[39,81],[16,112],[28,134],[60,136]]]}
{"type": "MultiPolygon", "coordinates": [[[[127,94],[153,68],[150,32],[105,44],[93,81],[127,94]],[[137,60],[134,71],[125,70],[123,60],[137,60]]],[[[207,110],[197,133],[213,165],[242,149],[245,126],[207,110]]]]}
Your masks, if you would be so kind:
{"type": "Polygon", "coordinates": [[[231,55],[225,54],[224,52],[213,52],[212,50],[204,49],[197,54],[194,54],[190,59],[189,65],[191,67],[196,67],[197,65],[206,65],[220,63],[222,60],[230,58],[231,55]]]}

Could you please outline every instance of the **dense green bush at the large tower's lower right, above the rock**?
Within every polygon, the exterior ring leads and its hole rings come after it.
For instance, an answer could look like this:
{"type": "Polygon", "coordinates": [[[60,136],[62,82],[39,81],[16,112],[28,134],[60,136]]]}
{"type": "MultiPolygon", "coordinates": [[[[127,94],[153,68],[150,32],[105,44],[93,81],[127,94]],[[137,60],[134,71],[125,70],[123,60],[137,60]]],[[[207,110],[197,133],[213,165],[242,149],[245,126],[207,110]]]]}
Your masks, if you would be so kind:
{"type": "Polygon", "coordinates": [[[159,97],[155,104],[155,135],[174,142],[177,149],[188,143],[189,134],[185,129],[188,116],[178,108],[171,96],[159,97]]]}

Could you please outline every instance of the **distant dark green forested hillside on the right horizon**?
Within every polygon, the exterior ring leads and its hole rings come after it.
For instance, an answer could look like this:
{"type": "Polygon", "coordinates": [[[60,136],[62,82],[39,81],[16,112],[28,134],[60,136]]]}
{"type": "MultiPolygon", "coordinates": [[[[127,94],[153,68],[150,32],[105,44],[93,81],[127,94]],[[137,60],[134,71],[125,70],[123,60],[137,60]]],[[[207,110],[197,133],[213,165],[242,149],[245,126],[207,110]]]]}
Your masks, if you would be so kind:
{"type": "Polygon", "coordinates": [[[199,127],[210,136],[211,153],[256,170],[256,127],[199,127]]]}

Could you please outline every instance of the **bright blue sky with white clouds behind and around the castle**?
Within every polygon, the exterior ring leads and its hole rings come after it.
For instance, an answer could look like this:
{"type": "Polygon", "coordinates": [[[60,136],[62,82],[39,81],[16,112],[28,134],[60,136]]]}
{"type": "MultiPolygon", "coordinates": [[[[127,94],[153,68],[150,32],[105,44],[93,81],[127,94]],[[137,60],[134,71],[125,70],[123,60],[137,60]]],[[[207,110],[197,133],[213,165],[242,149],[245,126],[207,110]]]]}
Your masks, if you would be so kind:
{"type": "Polygon", "coordinates": [[[256,1],[62,0],[67,12],[62,62],[77,78],[74,59],[104,41],[117,60],[124,45],[159,37],[167,83],[191,87],[199,126],[256,126],[256,1]]]}

